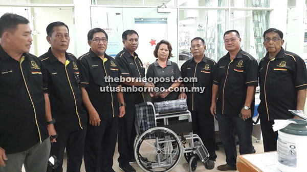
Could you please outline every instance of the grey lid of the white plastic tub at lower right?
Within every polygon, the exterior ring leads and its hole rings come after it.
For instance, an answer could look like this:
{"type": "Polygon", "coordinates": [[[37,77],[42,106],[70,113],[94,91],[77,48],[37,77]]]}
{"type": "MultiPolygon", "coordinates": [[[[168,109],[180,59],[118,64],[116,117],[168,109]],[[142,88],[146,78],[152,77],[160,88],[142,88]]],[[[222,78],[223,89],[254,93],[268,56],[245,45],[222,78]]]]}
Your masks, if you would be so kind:
{"type": "Polygon", "coordinates": [[[307,121],[299,119],[289,119],[295,121],[297,124],[291,123],[287,127],[281,129],[280,131],[287,134],[303,135],[307,136],[307,121]]]}

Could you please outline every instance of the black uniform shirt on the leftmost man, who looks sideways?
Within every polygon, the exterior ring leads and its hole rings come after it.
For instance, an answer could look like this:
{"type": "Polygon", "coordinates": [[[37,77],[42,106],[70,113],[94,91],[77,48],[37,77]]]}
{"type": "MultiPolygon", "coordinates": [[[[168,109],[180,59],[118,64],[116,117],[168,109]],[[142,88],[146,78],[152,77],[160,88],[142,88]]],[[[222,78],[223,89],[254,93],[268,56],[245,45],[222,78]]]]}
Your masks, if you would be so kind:
{"type": "Polygon", "coordinates": [[[40,61],[24,53],[19,63],[0,46],[0,147],[5,153],[25,151],[48,138],[45,114],[40,61]]]}

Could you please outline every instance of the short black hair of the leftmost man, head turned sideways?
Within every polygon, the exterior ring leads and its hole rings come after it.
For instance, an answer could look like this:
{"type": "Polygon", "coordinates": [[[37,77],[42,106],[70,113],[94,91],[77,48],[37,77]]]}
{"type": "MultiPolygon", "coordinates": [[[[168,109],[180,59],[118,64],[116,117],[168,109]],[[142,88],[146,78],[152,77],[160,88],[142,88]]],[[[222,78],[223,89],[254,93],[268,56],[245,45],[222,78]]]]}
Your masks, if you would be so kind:
{"type": "Polygon", "coordinates": [[[18,24],[29,24],[29,20],[14,13],[5,13],[0,17],[0,38],[9,30],[15,30],[18,24]]]}

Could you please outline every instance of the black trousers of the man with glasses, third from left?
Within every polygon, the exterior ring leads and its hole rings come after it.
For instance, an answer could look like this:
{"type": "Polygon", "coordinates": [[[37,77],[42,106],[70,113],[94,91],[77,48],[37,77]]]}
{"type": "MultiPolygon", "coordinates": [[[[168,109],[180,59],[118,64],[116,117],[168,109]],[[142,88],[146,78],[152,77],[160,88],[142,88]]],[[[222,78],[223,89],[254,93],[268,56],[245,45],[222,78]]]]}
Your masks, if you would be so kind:
{"type": "Polygon", "coordinates": [[[118,118],[101,120],[100,126],[87,124],[84,144],[84,165],[89,172],[114,171],[118,118]]]}

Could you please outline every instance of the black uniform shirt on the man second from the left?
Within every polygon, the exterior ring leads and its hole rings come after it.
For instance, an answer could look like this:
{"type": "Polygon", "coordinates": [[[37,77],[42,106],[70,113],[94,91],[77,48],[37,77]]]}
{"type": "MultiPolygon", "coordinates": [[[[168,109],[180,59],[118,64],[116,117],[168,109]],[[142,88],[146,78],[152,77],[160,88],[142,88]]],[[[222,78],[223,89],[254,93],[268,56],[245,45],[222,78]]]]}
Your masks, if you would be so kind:
{"type": "Polygon", "coordinates": [[[66,53],[65,64],[58,61],[49,48],[41,55],[43,91],[49,94],[51,114],[56,120],[55,129],[76,131],[83,129],[87,116],[82,106],[79,87],[79,67],[76,57],[66,53]]]}

